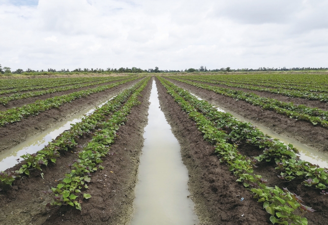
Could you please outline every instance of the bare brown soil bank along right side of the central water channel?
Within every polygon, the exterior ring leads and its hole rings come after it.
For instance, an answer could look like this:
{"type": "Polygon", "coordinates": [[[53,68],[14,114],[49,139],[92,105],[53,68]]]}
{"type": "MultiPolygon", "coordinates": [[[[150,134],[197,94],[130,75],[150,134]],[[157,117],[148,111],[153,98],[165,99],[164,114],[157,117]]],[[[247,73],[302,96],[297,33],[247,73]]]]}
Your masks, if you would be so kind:
{"type": "Polygon", "coordinates": [[[156,80],[161,109],[179,140],[183,163],[189,172],[189,191],[202,224],[267,225],[269,215],[262,204],[236,183],[236,177],[213,154],[195,122],[188,118],[172,96],[156,80]],[[243,201],[240,198],[244,197],[243,201]],[[241,215],[244,214],[244,217],[241,215]]]}

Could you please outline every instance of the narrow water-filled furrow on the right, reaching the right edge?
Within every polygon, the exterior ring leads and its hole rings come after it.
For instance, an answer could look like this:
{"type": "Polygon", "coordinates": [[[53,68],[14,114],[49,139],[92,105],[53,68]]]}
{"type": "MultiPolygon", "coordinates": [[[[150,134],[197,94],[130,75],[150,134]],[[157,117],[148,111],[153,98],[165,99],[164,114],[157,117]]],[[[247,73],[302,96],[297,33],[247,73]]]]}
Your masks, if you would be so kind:
{"type": "MultiPolygon", "coordinates": [[[[190,93],[190,92],[189,92],[190,93]]],[[[192,93],[190,93],[191,95],[197,97],[197,99],[199,100],[203,100],[202,98],[200,98],[199,96],[196,96],[192,93]]],[[[221,112],[228,112],[231,115],[233,115],[236,119],[238,119],[239,121],[245,121],[248,123],[253,124],[254,126],[256,126],[258,129],[260,129],[262,132],[268,134],[269,136],[279,139],[280,141],[284,142],[285,144],[292,144],[295,148],[298,149],[299,153],[300,153],[300,159],[304,160],[304,161],[308,161],[311,162],[312,164],[318,164],[320,167],[326,167],[328,168],[328,155],[325,155],[323,153],[320,153],[304,144],[299,143],[298,141],[295,141],[293,139],[290,139],[288,137],[279,135],[277,133],[274,133],[271,129],[268,129],[267,127],[264,127],[260,124],[257,124],[254,121],[250,121],[246,118],[243,118],[241,116],[239,116],[238,114],[236,114],[235,112],[232,112],[230,110],[227,110],[217,104],[211,103],[212,105],[214,105],[215,107],[217,107],[216,109],[218,111],[221,112]]]]}

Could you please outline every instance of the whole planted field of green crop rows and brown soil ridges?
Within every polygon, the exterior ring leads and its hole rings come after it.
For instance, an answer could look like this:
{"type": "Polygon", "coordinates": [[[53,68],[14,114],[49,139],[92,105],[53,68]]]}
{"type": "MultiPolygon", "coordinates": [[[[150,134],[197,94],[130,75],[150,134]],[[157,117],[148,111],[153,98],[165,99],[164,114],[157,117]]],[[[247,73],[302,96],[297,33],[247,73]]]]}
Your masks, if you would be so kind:
{"type": "Polygon", "coordinates": [[[0,225],[130,224],[154,88],[197,223],[327,224],[327,75],[142,73],[0,80],[0,155],[92,109],[1,171],[0,225]]]}

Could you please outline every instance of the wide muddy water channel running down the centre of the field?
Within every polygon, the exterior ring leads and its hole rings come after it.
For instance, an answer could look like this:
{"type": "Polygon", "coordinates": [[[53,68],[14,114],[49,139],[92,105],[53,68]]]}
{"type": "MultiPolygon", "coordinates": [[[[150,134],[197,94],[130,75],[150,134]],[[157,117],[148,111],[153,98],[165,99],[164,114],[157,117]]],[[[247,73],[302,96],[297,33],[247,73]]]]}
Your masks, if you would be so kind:
{"type": "Polygon", "coordinates": [[[188,171],[179,142],[160,109],[154,80],[149,101],[131,225],[197,224],[193,202],[187,197],[188,171]]]}

